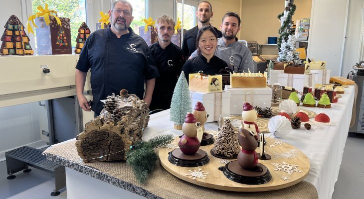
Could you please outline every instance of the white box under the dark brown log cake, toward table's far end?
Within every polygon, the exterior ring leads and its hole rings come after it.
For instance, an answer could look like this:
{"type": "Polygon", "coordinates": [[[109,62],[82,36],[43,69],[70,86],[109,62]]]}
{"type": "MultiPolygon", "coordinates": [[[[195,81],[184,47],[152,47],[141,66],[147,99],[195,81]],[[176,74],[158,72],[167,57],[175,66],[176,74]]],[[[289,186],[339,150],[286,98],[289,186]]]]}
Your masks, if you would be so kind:
{"type": "Polygon", "coordinates": [[[282,86],[292,87],[299,93],[303,92],[303,87],[313,87],[316,74],[278,74],[278,83],[282,86]]]}

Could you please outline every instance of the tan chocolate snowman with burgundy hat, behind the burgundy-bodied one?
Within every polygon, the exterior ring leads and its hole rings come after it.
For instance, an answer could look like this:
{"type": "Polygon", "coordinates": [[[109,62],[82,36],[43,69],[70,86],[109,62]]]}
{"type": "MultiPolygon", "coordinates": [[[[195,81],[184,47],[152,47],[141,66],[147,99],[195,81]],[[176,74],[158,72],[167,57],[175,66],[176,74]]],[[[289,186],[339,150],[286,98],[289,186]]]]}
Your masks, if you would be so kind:
{"type": "Polygon", "coordinates": [[[201,146],[205,146],[205,145],[209,145],[209,144],[213,144],[214,143],[214,139],[213,136],[211,134],[205,133],[205,122],[207,121],[208,118],[208,114],[205,110],[205,107],[203,106],[203,104],[200,101],[196,102],[196,105],[194,106],[194,110],[192,112],[192,114],[196,117],[197,122],[201,123],[201,127],[202,127],[202,139],[200,139],[201,141],[201,146]]]}

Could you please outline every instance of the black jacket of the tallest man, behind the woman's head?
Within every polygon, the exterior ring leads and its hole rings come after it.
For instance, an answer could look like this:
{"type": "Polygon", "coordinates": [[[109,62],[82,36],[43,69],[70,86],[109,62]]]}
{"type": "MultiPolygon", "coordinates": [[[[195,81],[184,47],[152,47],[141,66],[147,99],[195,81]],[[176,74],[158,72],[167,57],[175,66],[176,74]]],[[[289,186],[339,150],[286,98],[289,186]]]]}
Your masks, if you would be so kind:
{"type": "MultiPolygon", "coordinates": [[[[213,29],[217,33],[217,38],[222,37],[222,33],[217,28],[213,27],[213,29]]],[[[186,59],[197,49],[196,48],[196,39],[197,39],[198,26],[195,26],[186,31],[183,36],[182,50],[183,55],[186,59]]]]}

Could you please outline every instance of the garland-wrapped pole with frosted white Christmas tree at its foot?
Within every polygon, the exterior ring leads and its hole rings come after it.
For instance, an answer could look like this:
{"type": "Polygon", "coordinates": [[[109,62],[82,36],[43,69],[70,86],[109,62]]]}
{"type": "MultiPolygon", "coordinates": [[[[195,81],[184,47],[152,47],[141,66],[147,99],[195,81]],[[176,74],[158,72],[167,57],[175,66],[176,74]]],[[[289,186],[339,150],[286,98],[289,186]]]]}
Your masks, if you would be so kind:
{"type": "Polygon", "coordinates": [[[292,15],[295,13],[296,5],[293,0],[285,0],[284,11],[278,14],[278,19],[281,22],[281,27],[278,30],[279,38],[277,42],[279,62],[300,62],[298,53],[295,52],[295,41],[292,34],[292,15]]]}

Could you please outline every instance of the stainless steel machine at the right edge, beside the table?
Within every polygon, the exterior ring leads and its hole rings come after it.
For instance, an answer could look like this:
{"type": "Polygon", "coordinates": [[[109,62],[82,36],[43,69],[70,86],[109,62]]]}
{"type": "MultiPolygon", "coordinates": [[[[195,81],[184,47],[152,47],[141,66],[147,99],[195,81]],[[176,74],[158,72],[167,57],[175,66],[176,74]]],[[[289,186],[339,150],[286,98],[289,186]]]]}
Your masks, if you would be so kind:
{"type": "Polygon", "coordinates": [[[358,85],[358,96],[356,101],[356,121],[354,126],[349,128],[349,132],[364,133],[364,68],[353,67],[354,71],[348,74],[348,79],[353,80],[358,85]]]}

